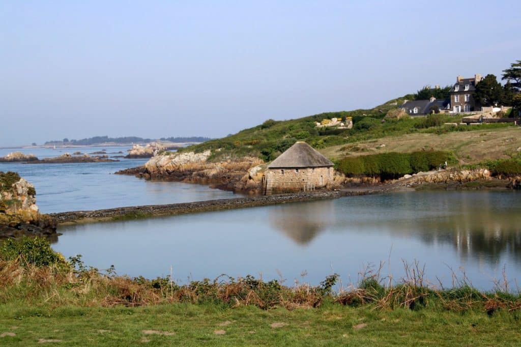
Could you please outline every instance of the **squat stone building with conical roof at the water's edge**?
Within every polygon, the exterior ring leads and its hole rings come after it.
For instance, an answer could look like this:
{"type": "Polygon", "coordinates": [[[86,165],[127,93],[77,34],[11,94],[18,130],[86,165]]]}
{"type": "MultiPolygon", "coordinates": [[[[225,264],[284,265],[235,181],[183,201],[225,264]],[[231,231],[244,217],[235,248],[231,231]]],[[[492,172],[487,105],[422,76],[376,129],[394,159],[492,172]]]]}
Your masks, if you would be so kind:
{"type": "Polygon", "coordinates": [[[332,187],[333,178],[331,160],[298,141],[268,165],[262,187],[265,195],[308,191],[332,187]]]}

